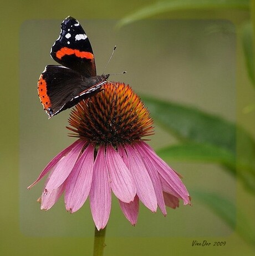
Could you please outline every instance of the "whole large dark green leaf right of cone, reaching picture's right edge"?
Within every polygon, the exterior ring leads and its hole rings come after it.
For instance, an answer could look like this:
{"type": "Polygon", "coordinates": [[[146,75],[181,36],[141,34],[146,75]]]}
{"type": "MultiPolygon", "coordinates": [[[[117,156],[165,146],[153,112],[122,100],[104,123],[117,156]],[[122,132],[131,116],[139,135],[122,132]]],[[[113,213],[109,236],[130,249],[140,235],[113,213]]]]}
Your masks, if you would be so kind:
{"type": "MultiPolygon", "coordinates": [[[[142,100],[154,121],[162,128],[174,134],[182,143],[192,142],[200,145],[197,151],[192,144],[182,148],[180,146],[175,149],[175,154],[182,154],[183,159],[191,159],[192,153],[195,160],[209,160],[211,157],[212,162],[223,164],[232,174],[236,174],[237,169],[238,177],[244,186],[255,193],[255,142],[247,132],[236,127],[234,123],[196,108],[153,97],[142,97],[142,100]]],[[[167,158],[166,154],[161,157],[167,158]]]]}

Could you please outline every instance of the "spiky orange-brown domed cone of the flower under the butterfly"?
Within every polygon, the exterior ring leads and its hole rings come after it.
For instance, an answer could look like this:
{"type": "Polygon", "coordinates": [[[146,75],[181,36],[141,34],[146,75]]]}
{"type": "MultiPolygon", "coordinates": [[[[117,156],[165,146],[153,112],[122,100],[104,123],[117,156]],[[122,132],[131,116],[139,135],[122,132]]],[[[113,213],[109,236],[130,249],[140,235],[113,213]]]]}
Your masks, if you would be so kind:
{"type": "Polygon", "coordinates": [[[129,85],[107,82],[102,89],[73,109],[69,135],[118,146],[153,134],[149,111],[129,85]]]}

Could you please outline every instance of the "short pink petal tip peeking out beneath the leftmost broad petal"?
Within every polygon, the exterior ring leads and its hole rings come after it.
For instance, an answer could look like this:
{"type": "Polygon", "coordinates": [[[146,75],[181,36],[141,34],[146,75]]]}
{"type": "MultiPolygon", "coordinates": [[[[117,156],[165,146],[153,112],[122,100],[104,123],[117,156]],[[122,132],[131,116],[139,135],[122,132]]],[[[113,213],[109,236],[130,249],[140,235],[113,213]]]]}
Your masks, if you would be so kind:
{"type": "Polygon", "coordinates": [[[65,189],[65,183],[60,185],[58,188],[53,189],[50,192],[42,194],[42,204],[40,205],[41,210],[49,210],[61,197],[65,189]]]}

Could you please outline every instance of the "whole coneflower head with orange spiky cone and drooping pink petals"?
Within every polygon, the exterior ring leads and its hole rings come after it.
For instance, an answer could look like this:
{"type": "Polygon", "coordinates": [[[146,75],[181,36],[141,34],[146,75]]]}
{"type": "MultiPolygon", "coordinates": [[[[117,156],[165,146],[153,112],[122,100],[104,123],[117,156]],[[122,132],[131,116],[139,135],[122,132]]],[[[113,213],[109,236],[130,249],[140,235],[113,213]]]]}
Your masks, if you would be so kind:
{"type": "Polygon", "coordinates": [[[50,209],[65,193],[65,207],[73,213],[89,197],[95,226],[108,223],[111,192],[125,217],[135,225],[141,201],[152,212],[166,215],[166,205],[190,204],[180,175],[145,143],[153,134],[149,111],[131,87],[106,83],[103,90],[73,109],[67,127],[79,138],[44,168],[33,187],[47,173],[41,209],[50,209]]]}

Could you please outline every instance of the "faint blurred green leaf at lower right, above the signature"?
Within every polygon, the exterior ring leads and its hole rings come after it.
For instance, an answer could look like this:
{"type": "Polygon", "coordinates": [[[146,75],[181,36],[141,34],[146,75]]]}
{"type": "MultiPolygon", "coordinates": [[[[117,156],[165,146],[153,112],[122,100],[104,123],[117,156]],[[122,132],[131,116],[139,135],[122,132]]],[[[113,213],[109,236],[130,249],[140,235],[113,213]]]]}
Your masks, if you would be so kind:
{"type": "Polygon", "coordinates": [[[234,203],[215,192],[192,190],[191,195],[193,204],[196,203],[196,200],[199,200],[201,203],[207,205],[207,207],[224,220],[229,227],[235,229],[246,242],[251,244],[255,243],[255,232],[251,228],[251,223],[249,223],[241,209],[238,208],[237,211],[234,203]]]}

